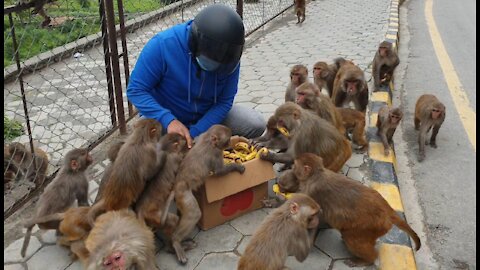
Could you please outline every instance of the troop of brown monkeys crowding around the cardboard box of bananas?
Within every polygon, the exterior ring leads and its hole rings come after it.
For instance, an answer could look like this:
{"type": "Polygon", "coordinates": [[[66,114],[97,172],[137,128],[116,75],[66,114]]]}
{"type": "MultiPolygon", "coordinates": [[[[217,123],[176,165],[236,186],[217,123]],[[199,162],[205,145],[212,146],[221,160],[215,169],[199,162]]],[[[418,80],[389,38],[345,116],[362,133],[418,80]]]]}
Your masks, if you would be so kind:
{"type": "MultiPolygon", "coordinates": [[[[391,44],[382,42],[373,63],[375,90],[388,83],[397,64],[391,44]]],[[[340,231],[356,256],[347,262],[351,266],[374,263],[376,240],[393,225],[407,232],[418,250],[417,234],[377,191],[338,173],[352,154],[350,132],[359,150],[368,146],[364,134],[368,87],[363,71],[337,58],[331,65],[314,65],[314,83],[307,77],[305,66],[291,69],[286,102],[268,119],[265,133],[258,138],[232,136],[228,127],[213,125],[188,149],[181,135],[162,135],[158,121],[138,120],[128,137],[109,148],[111,163],[92,206],[86,174],[92,157],[87,149],[69,151],[40,196],[35,216],[25,223],[22,256],[38,224],[41,229],[56,230],[58,244],[69,247],[85,269],[157,269],[154,231],[185,264],[185,251],[196,246],[187,237],[202,214],[194,192],[208,176],[245,171],[242,164],[223,161],[223,150],[238,140],[267,147],[269,151],[260,158],[284,164],[277,179],[280,191],[295,193],[262,222],[238,269],[284,269],[287,256],[303,261],[321,223],[340,231]],[[323,88],[328,96],[321,93],[323,88]],[[355,109],[342,108],[350,102],[355,109]],[[169,211],[173,200],[178,215],[169,211]],[[77,207],[73,207],[75,201],[77,207]]],[[[379,111],[377,127],[385,154],[402,115],[399,108],[388,106],[379,111]]],[[[434,96],[424,95],[417,102],[415,127],[420,128],[421,157],[432,127],[430,144],[436,147],[435,136],[444,117],[445,108],[434,96]]]]}

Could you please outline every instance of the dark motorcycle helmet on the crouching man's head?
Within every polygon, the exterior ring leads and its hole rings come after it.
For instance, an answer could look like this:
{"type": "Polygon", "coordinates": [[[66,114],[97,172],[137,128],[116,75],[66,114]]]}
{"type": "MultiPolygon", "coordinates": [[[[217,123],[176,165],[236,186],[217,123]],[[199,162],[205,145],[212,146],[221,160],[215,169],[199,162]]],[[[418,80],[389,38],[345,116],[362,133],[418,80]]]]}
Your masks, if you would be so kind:
{"type": "Polygon", "coordinates": [[[226,5],[210,5],[193,20],[188,45],[204,70],[232,73],[240,62],[244,44],[242,18],[226,5]]]}

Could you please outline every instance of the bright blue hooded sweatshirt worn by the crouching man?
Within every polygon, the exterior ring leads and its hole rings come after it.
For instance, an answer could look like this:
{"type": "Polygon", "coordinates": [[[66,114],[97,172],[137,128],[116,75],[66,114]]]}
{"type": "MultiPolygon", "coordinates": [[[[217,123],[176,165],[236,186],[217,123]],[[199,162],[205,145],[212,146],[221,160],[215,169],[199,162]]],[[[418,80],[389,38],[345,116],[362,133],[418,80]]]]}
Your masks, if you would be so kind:
{"type": "Polygon", "coordinates": [[[238,90],[240,65],[230,75],[200,69],[188,48],[191,21],[150,39],[130,75],[127,97],[146,118],[164,129],[174,119],[196,137],[221,123],[238,90]]]}

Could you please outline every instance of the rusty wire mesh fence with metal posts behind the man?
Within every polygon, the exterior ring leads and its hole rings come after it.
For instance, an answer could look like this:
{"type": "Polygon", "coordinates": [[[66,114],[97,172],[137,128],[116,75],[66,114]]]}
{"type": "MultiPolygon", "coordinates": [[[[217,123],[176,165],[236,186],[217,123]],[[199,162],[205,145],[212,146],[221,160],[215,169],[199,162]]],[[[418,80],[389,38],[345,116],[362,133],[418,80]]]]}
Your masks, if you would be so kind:
{"type": "Polygon", "coordinates": [[[51,181],[66,152],[92,149],[117,129],[125,133],[126,122],[136,114],[125,89],[145,43],[212,3],[236,9],[249,35],[293,1],[4,2],[4,146],[20,142],[32,152],[33,146],[42,149],[50,158],[49,177],[43,183],[12,181],[12,188],[5,190],[4,219],[51,181]],[[46,3],[47,26],[41,25],[45,19],[35,5],[40,2],[46,3]],[[12,121],[23,130],[18,136],[12,136],[12,121]],[[23,191],[12,192],[15,189],[23,191]]]}

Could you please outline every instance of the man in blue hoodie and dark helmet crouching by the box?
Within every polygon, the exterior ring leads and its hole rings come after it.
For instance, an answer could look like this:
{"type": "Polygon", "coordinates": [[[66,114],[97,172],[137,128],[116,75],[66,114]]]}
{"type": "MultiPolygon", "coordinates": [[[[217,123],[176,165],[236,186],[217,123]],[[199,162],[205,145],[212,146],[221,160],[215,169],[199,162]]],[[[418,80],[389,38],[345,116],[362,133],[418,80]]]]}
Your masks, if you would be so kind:
{"type": "Polygon", "coordinates": [[[230,7],[214,4],[194,20],[155,35],[130,76],[127,97],[167,133],[187,139],[224,124],[235,135],[254,138],[265,130],[263,116],[233,105],[238,90],[245,29],[230,7]],[[233,107],[232,107],[233,105],[233,107]]]}

